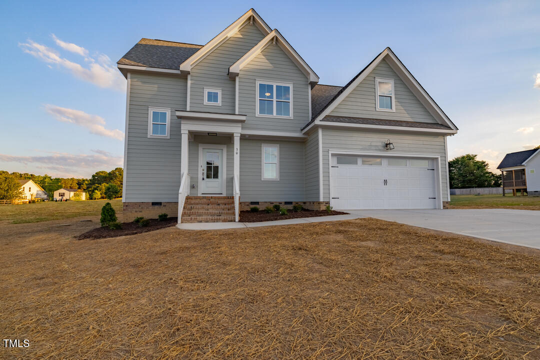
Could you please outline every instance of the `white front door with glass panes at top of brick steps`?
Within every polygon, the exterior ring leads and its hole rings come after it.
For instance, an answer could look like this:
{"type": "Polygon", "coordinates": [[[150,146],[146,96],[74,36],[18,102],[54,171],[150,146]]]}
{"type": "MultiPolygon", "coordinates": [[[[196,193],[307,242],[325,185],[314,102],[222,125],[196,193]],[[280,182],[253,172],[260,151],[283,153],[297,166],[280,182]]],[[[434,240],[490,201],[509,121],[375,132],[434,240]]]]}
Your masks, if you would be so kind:
{"type": "Polygon", "coordinates": [[[201,195],[224,195],[223,193],[223,149],[201,151],[200,162],[201,195]]]}

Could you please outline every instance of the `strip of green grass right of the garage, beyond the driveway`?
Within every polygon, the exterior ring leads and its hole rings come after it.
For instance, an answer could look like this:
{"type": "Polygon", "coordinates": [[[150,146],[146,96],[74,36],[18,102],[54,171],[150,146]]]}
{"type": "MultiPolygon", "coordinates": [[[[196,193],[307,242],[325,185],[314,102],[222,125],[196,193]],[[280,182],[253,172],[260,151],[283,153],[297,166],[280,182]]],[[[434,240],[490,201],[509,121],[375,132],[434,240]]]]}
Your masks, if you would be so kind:
{"type": "Polygon", "coordinates": [[[506,207],[535,206],[540,210],[540,196],[451,195],[450,206],[506,207]]]}

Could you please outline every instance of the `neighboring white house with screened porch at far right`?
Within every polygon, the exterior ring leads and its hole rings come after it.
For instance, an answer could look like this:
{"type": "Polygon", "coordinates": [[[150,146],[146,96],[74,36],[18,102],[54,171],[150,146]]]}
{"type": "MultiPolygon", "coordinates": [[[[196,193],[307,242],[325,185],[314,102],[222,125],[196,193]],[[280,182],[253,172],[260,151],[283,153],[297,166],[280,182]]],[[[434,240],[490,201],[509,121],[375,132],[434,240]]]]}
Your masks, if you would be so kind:
{"type": "Polygon", "coordinates": [[[517,151],[504,156],[497,169],[503,176],[503,189],[527,191],[528,195],[540,196],[540,149],[517,151]]]}

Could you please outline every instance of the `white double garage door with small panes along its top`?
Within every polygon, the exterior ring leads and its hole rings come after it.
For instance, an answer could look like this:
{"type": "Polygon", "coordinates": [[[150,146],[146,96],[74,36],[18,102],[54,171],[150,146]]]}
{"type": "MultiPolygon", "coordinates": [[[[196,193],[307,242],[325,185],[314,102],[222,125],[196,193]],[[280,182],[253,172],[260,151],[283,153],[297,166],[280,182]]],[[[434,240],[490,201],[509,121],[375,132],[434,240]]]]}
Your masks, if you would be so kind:
{"type": "Polygon", "coordinates": [[[333,155],[330,204],[336,210],[437,209],[435,161],[333,155]]]}

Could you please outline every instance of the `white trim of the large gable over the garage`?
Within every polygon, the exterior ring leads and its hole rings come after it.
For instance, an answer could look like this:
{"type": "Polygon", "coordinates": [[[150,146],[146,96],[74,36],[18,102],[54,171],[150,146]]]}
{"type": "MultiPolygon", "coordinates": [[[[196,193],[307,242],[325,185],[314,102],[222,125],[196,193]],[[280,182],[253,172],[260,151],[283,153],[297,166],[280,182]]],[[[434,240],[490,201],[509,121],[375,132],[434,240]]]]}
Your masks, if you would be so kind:
{"type": "Polygon", "coordinates": [[[366,67],[362,73],[357,77],[352,84],[350,84],[345,91],[343,91],[337,99],[335,99],[330,105],[321,113],[319,114],[316,119],[315,123],[319,123],[320,120],[322,120],[326,115],[330,114],[332,110],[335,109],[336,106],[343,101],[349,95],[359,84],[362,82],[368,74],[370,74],[377,65],[381,63],[383,59],[387,60],[390,67],[394,69],[394,71],[399,75],[399,77],[403,80],[403,82],[409,87],[409,89],[415,94],[415,96],[419,99],[419,101],[426,107],[426,109],[435,117],[435,120],[437,120],[439,123],[444,124],[448,127],[450,127],[453,130],[457,131],[457,127],[454,125],[453,122],[448,118],[446,114],[442,111],[440,107],[431,99],[431,96],[422,88],[420,83],[416,81],[416,79],[413,77],[413,75],[407,70],[407,68],[401,63],[400,59],[398,59],[395,54],[390,50],[389,47],[384,49],[383,52],[377,56],[372,63],[366,67]]]}

